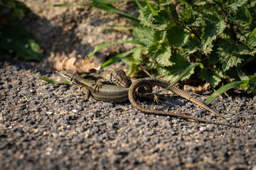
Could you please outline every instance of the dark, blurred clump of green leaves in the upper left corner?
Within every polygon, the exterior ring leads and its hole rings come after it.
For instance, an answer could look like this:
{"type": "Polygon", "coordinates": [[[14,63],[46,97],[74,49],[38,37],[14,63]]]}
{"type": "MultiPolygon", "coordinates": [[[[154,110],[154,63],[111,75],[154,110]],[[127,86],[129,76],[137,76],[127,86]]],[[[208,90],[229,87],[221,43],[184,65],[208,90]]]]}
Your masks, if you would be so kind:
{"type": "Polygon", "coordinates": [[[43,54],[35,38],[26,30],[14,26],[17,19],[22,18],[30,10],[20,1],[0,1],[0,47],[25,60],[43,60],[43,54]]]}

